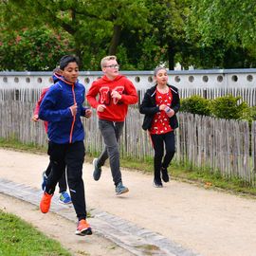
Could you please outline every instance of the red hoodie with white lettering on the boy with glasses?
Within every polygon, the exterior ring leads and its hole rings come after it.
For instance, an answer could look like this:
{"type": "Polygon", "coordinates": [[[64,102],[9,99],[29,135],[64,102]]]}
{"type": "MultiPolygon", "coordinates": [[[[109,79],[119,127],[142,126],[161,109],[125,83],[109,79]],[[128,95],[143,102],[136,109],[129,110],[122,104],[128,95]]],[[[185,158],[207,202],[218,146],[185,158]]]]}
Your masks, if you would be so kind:
{"type": "Polygon", "coordinates": [[[93,108],[97,108],[100,104],[106,106],[103,112],[98,112],[99,119],[124,121],[128,105],[137,103],[137,90],[133,82],[124,76],[119,75],[114,80],[103,76],[92,83],[86,99],[93,108]],[[121,94],[120,100],[111,98],[111,93],[115,90],[121,94]]]}

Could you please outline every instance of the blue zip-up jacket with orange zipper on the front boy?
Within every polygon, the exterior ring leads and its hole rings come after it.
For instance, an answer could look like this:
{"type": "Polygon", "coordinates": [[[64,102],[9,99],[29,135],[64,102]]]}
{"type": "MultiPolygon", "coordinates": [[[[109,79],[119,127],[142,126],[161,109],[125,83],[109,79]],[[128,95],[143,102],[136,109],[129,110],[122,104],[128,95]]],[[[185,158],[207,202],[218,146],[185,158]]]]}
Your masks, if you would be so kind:
{"type": "Polygon", "coordinates": [[[51,85],[40,105],[39,119],[48,121],[48,138],[58,144],[74,143],[84,139],[81,116],[85,116],[82,106],[85,88],[80,82],[59,82],[51,85]],[[70,106],[77,103],[78,112],[72,116],[70,106]]]}

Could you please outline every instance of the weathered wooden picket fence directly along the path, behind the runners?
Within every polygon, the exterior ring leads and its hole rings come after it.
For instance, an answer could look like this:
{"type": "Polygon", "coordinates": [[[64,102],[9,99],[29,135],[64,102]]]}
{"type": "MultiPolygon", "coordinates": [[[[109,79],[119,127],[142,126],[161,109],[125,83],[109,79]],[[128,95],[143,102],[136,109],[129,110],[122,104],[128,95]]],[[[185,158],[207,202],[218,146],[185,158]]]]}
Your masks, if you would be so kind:
{"type": "MultiPolygon", "coordinates": [[[[46,146],[43,121],[31,121],[33,102],[0,101],[0,137],[16,137],[24,143],[46,146]]],[[[122,156],[144,159],[153,155],[147,132],[141,129],[143,116],[130,108],[120,138],[122,156]]],[[[210,169],[228,178],[239,177],[255,186],[256,122],[213,119],[179,113],[176,129],[175,160],[199,169],[210,169]]],[[[83,119],[85,147],[89,153],[100,152],[103,143],[96,113],[83,119]]]]}

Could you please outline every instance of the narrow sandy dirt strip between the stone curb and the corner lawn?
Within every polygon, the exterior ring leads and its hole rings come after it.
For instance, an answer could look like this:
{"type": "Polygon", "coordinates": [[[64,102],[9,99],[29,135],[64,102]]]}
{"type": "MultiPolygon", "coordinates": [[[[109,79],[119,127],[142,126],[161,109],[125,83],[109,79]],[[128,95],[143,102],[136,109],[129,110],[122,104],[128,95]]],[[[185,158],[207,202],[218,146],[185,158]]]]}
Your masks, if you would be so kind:
{"type": "Polygon", "coordinates": [[[73,222],[55,213],[41,214],[38,207],[1,193],[0,209],[20,216],[50,238],[59,241],[74,256],[132,255],[99,235],[86,237],[74,235],[76,227],[73,222]]]}

